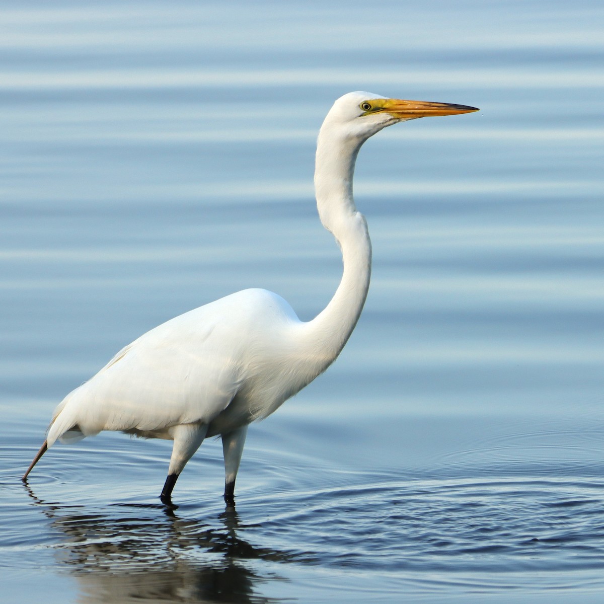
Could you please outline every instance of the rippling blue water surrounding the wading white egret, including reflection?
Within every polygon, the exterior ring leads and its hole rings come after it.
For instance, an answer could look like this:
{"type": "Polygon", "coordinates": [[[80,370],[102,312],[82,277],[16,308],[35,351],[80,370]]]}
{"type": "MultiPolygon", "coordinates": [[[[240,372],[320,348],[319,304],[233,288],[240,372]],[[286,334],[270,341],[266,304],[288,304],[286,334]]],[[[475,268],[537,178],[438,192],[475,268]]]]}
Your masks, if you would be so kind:
{"type": "Polygon", "coordinates": [[[595,0],[3,2],[2,602],[601,602],[602,25],[595,0]],[[312,318],[344,92],[464,103],[370,140],[374,272],[338,362],[206,442],[101,434],[19,478],[54,406],[178,313],[259,286],[312,318]]]}

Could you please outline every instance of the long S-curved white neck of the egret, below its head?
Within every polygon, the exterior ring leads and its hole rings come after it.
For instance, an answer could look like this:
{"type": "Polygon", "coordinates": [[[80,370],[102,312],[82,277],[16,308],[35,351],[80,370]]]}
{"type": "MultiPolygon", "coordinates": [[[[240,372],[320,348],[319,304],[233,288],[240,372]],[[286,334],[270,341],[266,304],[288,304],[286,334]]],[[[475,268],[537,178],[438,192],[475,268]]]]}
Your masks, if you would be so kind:
{"type": "Polygon", "coordinates": [[[352,194],[355,161],[362,140],[327,135],[321,128],[316,147],[316,205],[323,226],[342,251],[342,280],[327,307],[306,324],[306,345],[317,374],[339,355],[355,329],[367,298],[371,276],[371,241],[367,222],[356,211],[352,194]]]}

